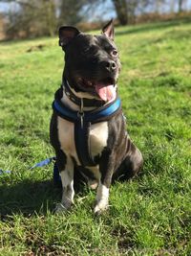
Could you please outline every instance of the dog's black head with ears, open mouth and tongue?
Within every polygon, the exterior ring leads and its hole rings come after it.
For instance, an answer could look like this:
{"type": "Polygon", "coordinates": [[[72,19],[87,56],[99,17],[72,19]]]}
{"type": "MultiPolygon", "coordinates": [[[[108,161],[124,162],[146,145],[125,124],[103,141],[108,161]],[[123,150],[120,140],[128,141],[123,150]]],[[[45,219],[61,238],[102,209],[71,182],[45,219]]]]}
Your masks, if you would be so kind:
{"type": "Polygon", "coordinates": [[[64,76],[76,92],[89,92],[105,102],[116,98],[120,62],[112,20],[103,27],[102,35],[87,35],[63,26],[59,45],[65,52],[64,76]]]}

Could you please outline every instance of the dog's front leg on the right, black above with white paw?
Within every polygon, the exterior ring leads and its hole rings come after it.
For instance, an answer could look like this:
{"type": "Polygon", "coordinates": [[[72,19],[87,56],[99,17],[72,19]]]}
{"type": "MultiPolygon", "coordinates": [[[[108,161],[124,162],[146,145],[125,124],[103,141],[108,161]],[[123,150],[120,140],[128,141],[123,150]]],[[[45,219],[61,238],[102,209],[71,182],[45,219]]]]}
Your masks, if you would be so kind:
{"type": "Polygon", "coordinates": [[[100,180],[96,191],[96,207],[95,214],[100,214],[108,207],[109,188],[112,181],[114,172],[114,155],[103,153],[102,160],[99,164],[100,180]]]}

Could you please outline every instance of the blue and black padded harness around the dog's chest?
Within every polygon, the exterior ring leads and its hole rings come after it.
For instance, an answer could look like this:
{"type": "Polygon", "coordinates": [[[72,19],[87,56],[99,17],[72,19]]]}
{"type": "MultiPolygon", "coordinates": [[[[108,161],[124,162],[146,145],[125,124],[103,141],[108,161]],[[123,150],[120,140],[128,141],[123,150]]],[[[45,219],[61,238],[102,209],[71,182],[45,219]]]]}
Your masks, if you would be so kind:
{"type": "Polygon", "coordinates": [[[58,116],[74,123],[74,142],[77,156],[82,166],[96,166],[90,151],[90,127],[110,120],[121,110],[120,99],[91,111],[74,111],[60,100],[53,101],[53,110],[58,116]]]}

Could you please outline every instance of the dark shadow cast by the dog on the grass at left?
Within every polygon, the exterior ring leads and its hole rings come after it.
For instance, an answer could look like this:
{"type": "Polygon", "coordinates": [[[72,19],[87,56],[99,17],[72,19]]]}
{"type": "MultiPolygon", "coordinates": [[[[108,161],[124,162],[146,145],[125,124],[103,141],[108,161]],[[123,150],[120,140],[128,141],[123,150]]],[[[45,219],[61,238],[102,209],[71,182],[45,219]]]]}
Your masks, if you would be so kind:
{"type": "Polygon", "coordinates": [[[0,186],[0,217],[21,213],[30,216],[34,212],[53,210],[53,204],[61,197],[61,187],[53,180],[24,179],[15,184],[0,186]]]}

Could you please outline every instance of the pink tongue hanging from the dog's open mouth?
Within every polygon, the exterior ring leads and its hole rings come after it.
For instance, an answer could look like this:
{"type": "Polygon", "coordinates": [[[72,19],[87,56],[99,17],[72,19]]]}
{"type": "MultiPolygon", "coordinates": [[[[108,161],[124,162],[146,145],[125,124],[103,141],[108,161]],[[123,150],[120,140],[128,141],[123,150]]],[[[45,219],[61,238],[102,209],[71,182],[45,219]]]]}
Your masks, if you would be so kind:
{"type": "Polygon", "coordinates": [[[116,99],[116,89],[113,84],[105,85],[104,83],[96,84],[96,93],[104,102],[111,102],[116,99]]]}

